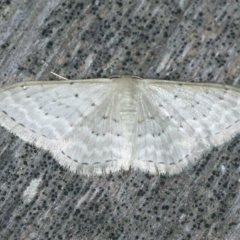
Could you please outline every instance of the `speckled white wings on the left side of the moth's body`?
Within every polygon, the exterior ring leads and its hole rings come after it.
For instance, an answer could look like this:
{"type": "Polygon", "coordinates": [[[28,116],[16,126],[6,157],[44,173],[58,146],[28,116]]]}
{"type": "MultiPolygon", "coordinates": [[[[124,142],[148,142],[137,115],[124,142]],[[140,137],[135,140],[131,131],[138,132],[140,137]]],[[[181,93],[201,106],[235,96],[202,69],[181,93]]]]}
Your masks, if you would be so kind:
{"type": "Polygon", "coordinates": [[[24,82],[0,90],[0,122],[74,172],[120,169],[124,141],[111,79],[24,82]]]}

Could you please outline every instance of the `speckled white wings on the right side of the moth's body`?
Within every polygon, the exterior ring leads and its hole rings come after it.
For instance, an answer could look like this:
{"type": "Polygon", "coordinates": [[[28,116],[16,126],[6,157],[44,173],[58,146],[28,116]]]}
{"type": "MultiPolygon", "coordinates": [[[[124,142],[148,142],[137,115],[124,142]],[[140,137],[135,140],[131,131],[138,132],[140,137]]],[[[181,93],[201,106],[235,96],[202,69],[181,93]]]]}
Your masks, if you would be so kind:
{"type": "Polygon", "coordinates": [[[179,173],[240,132],[240,90],[211,83],[143,80],[134,168],[179,173]]]}

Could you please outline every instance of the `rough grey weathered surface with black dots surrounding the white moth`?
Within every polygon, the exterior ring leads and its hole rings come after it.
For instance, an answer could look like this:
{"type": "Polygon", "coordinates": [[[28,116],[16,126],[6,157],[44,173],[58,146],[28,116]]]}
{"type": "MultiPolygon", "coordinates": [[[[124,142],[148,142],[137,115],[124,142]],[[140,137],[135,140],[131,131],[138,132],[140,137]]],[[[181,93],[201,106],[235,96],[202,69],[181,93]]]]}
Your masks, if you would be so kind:
{"type": "MultiPolygon", "coordinates": [[[[240,86],[237,1],[2,1],[0,11],[2,85],[55,71],[240,86]]],[[[0,238],[237,240],[239,145],[174,177],[83,178],[1,129],[0,238]]]]}

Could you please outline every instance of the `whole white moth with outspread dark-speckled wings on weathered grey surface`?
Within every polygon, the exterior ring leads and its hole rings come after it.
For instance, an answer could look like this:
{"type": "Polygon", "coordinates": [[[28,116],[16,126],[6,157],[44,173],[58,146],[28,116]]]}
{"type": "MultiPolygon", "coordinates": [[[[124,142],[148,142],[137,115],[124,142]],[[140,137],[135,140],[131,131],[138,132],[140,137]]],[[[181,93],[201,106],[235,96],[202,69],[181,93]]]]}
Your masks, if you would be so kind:
{"type": "Polygon", "coordinates": [[[119,77],[0,89],[0,124],[82,174],[176,174],[240,132],[240,90],[119,77]]]}

